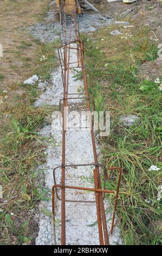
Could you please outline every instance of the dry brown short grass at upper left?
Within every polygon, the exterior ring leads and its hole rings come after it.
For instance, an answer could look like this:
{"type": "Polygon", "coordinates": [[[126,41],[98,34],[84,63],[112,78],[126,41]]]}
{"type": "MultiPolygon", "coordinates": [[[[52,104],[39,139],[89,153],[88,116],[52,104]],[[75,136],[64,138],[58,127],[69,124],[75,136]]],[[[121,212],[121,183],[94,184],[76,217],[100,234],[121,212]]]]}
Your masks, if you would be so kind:
{"type": "Polygon", "coordinates": [[[16,90],[25,78],[30,77],[35,66],[36,43],[27,33],[27,28],[43,20],[50,0],[0,0],[0,93],[9,91],[0,112],[7,113],[15,105],[16,90]]]}

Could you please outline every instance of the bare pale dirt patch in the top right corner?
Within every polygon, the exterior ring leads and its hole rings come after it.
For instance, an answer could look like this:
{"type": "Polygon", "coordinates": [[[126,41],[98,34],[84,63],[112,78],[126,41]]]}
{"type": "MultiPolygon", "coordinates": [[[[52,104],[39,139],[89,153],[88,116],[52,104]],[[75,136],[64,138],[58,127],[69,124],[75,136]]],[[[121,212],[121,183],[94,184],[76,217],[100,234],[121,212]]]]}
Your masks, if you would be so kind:
{"type": "Polygon", "coordinates": [[[107,3],[107,1],[104,1],[104,3],[98,5],[100,13],[104,16],[109,15],[114,19],[125,21],[132,20],[139,27],[147,24],[157,34],[159,40],[161,40],[161,7],[162,3],[157,0],[139,0],[131,4],[122,2],[107,3]],[[120,17],[128,9],[132,9],[132,11],[126,17],[120,17]]]}

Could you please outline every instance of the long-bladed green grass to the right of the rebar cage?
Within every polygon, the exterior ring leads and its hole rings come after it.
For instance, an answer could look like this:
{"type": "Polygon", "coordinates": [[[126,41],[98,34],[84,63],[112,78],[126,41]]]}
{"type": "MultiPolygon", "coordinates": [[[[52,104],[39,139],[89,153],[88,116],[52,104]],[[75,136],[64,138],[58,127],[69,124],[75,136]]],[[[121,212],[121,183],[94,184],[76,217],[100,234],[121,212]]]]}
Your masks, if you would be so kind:
{"type": "MultiPolygon", "coordinates": [[[[97,110],[111,112],[111,133],[100,138],[102,162],[123,169],[117,213],[124,243],[159,245],[157,220],[161,220],[162,205],[157,193],[162,168],[148,169],[153,164],[162,167],[161,93],[156,77],[147,81],[139,76],[140,65],[157,58],[157,45],[145,26],[128,31],[132,34],[128,39],[109,35],[112,30],[99,30],[88,41],[83,36],[90,93],[97,110]],[[123,127],[118,117],[128,113],[138,115],[140,124],[123,127]]],[[[109,173],[108,189],[116,188],[117,177],[109,173]]]]}

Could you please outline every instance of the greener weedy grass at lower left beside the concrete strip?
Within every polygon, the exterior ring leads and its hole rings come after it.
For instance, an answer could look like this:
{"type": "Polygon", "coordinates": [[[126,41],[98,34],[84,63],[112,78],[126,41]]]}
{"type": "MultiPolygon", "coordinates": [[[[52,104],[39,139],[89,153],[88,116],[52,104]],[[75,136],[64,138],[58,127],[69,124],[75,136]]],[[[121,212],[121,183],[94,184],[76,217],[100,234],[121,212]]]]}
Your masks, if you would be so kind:
{"type": "Polygon", "coordinates": [[[13,236],[16,244],[20,244],[30,233],[28,227],[32,215],[29,210],[41,197],[40,188],[36,185],[39,179],[36,167],[43,154],[44,139],[38,135],[37,129],[43,124],[46,110],[35,109],[29,102],[18,103],[11,123],[1,131],[1,244],[12,244],[13,236]]]}

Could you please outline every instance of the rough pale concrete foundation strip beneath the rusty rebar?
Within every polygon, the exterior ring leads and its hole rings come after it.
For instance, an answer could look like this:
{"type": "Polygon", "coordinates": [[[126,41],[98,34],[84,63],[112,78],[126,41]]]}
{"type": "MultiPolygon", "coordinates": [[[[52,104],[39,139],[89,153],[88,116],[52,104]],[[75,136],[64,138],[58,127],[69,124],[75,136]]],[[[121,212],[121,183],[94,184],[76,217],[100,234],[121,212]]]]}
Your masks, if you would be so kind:
{"type": "MultiPolygon", "coordinates": [[[[71,62],[76,61],[76,52],[70,51],[71,62]]],[[[69,72],[69,93],[77,94],[78,88],[83,88],[83,81],[76,80],[77,71],[70,70],[69,72]]],[[[51,74],[51,84],[36,102],[36,106],[46,105],[52,102],[51,105],[59,105],[60,99],[63,97],[63,86],[61,77],[61,67],[51,74]],[[50,99],[48,96],[50,95],[50,99]]],[[[70,101],[69,116],[73,119],[73,110],[85,110],[85,102],[81,99],[70,101]]],[[[47,148],[47,162],[41,166],[44,170],[45,184],[49,191],[54,185],[53,169],[61,164],[62,151],[62,130],[56,129],[60,119],[56,113],[51,115],[51,125],[43,127],[41,135],[49,137],[53,143],[49,143],[47,148]]],[[[70,119],[69,118],[69,119],[70,119]]],[[[99,148],[99,145],[96,145],[99,148]]],[[[100,150],[98,149],[98,154],[100,150]]],[[[90,130],[85,129],[69,129],[66,132],[66,162],[69,164],[77,163],[92,163],[94,162],[92,141],[90,130]]],[[[92,187],[90,180],[93,176],[93,169],[90,167],[69,167],[66,169],[66,185],[92,187]]],[[[57,169],[56,181],[60,183],[61,169],[57,169]]],[[[94,193],[87,191],[66,190],[66,199],[69,200],[95,200],[94,193]]],[[[41,202],[40,207],[46,208],[51,212],[51,200],[41,202]]],[[[105,200],[105,209],[107,217],[107,227],[110,229],[112,212],[109,212],[109,203],[105,200]]],[[[53,222],[51,216],[47,216],[40,212],[40,230],[36,238],[36,245],[53,245],[53,222]]],[[[61,238],[61,203],[56,200],[55,208],[55,226],[56,226],[56,244],[59,245],[61,238]]],[[[66,244],[67,245],[99,245],[98,224],[96,216],[95,203],[66,203],[66,244]]],[[[110,244],[121,244],[120,229],[115,226],[113,235],[109,237],[110,244]]]]}

